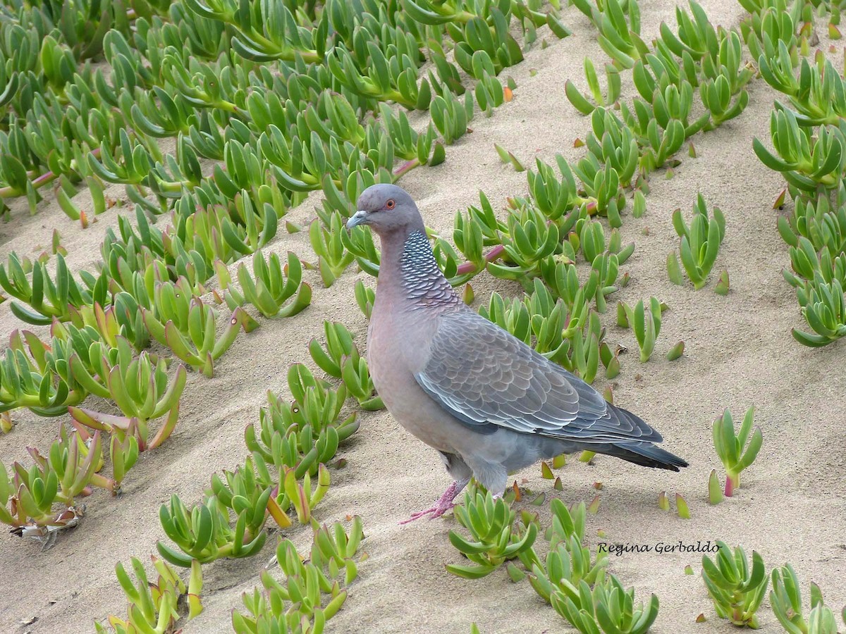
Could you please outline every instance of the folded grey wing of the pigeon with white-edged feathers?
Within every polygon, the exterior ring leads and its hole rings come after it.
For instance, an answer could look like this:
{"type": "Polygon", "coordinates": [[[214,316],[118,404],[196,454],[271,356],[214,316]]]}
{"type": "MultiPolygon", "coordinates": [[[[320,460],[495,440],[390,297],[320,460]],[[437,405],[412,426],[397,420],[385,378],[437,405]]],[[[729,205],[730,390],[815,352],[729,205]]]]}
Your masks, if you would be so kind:
{"type": "Polygon", "coordinates": [[[661,435],[609,405],[584,381],[470,309],[437,317],[426,367],[415,380],[470,429],[497,427],[584,442],[661,435]]]}

